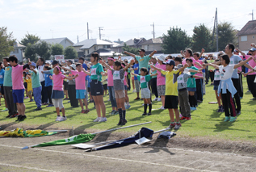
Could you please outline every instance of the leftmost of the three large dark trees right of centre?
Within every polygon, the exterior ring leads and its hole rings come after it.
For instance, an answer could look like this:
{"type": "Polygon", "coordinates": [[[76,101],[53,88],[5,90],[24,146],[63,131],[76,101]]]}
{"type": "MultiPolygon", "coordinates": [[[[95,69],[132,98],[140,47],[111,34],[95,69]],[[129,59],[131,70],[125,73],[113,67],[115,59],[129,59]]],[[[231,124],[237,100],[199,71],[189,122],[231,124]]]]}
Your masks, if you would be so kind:
{"type": "Polygon", "coordinates": [[[178,53],[181,49],[190,46],[191,38],[181,28],[170,27],[167,34],[163,34],[162,48],[164,53],[178,53]]]}

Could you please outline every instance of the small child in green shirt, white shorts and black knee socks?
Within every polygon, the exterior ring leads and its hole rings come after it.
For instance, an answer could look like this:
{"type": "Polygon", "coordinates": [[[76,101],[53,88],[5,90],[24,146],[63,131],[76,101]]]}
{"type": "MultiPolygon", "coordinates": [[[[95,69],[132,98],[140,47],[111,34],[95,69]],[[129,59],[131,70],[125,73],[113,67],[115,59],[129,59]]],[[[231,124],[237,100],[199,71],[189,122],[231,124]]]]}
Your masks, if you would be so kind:
{"type": "Polygon", "coordinates": [[[141,82],[141,98],[144,100],[144,113],[142,115],[147,115],[147,108],[149,104],[149,113],[151,115],[152,103],[150,101],[150,90],[149,90],[149,81],[153,76],[156,76],[157,73],[148,74],[148,69],[141,68],[141,75],[132,73],[134,76],[138,78],[141,82]]]}

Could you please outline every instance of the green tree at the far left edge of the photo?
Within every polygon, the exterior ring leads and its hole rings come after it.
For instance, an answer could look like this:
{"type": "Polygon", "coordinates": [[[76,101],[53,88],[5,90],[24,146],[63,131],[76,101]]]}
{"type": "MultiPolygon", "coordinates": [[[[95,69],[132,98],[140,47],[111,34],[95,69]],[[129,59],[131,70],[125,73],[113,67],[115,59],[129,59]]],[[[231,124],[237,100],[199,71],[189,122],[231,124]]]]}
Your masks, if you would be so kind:
{"type": "Polygon", "coordinates": [[[0,27],[0,59],[9,57],[14,50],[15,39],[12,32],[7,33],[7,27],[0,27]]]}

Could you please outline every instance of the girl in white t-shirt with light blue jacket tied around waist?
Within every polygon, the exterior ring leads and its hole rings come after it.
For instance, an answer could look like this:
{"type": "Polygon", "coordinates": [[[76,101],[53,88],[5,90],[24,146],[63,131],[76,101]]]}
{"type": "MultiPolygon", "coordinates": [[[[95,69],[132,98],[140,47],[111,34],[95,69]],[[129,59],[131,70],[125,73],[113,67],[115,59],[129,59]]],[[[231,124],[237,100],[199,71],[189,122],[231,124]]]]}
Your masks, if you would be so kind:
{"type": "Polygon", "coordinates": [[[246,61],[242,61],[237,65],[229,65],[230,59],[227,54],[223,54],[220,56],[220,64],[221,65],[213,65],[212,63],[205,64],[211,65],[215,69],[219,69],[220,72],[220,85],[218,87],[218,94],[221,93],[223,107],[225,109],[225,120],[229,122],[234,122],[237,120],[236,108],[233,103],[233,95],[237,93],[237,90],[233,86],[233,82],[231,80],[233,75],[233,70],[238,67],[245,65],[248,61],[250,61],[252,57],[249,57],[246,61]],[[230,110],[230,115],[229,115],[230,110]]]}

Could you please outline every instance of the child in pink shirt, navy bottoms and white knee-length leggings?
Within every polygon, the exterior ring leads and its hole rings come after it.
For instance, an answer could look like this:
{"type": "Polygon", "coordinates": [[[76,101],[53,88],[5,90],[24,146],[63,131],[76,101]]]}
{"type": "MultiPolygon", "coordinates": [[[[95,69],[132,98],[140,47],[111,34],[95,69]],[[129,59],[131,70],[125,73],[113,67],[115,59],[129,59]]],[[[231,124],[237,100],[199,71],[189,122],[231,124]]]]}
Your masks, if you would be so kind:
{"type": "Polygon", "coordinates": [[[54,74],[50,76],[50,79],[52,79],[53,81],[52,103],[54,104],[54,107],[56,108],[57,112],[56,121],[64,121],[67,120],[67,117],[65,116],[65,108],[62,103],[64,98],[63,80],[72,80],[74,78],[77,78],[78,74],[76,74],[76,76],[74,77],[66,77],[64,74],[61,73],[61,69],[58,65],[54,67],[53,73],[54,74]],[[62,116],[60,115],[60,109],[62,112],[62,116]]]}

